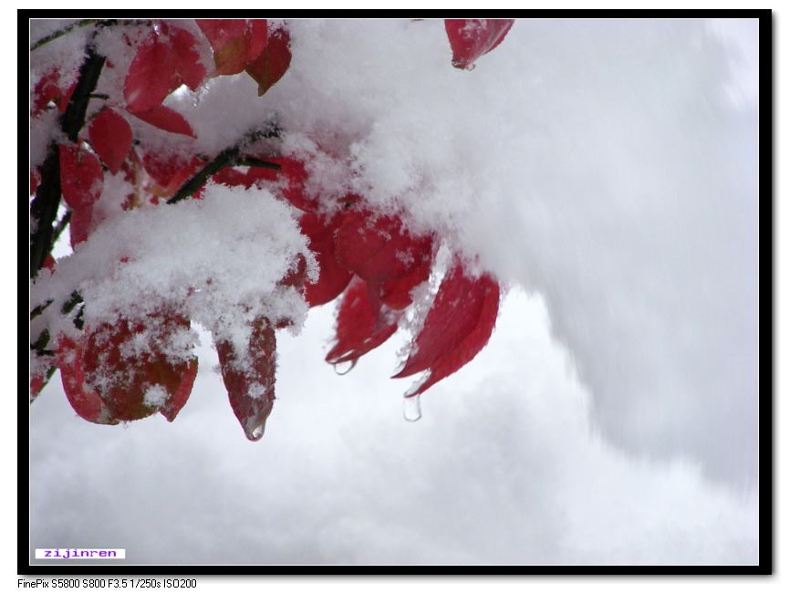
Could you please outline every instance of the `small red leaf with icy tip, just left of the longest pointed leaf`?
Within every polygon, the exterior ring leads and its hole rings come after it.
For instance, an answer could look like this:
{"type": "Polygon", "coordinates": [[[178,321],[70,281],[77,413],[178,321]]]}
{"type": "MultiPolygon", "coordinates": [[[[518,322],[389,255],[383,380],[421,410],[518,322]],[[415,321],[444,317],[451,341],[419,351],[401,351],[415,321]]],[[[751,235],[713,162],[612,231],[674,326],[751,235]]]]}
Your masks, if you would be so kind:
{"type": "Polygon", "coordinates": [[[337,338],[329,364],[350,362],[379,347],[397,331],[400,311],[384,311],[375,292],[360,278],[351,280],[337,310],[337,338]]]}

